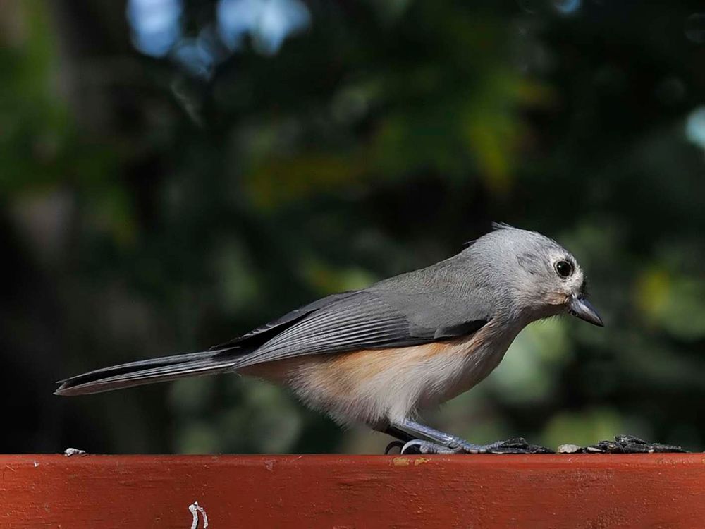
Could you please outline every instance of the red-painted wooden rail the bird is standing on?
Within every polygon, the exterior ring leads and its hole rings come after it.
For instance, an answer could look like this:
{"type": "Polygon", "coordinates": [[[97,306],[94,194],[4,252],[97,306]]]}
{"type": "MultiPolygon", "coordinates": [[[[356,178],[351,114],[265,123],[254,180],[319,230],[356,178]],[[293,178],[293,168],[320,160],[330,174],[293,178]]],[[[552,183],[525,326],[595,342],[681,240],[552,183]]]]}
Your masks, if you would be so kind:
{"type": "Polygon", "coordinates": [[[705,454],[0,456],[3,529],[201,529],[204,513],[210,529],[705,528],[705,454]]]}

